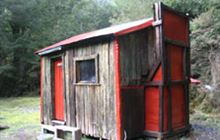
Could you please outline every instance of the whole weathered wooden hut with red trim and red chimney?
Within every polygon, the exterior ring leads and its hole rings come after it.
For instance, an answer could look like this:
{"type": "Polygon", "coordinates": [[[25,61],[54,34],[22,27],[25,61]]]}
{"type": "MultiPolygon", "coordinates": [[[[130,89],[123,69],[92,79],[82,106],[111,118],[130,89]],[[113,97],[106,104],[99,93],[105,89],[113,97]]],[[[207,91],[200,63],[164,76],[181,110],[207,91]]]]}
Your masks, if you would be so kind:
{"type": "Polygon", "coordinates": [[[80,34],[41,57],[41,121],[122,140],[189,131],[189,20],[158,3],[154,17],[80,34]]]}

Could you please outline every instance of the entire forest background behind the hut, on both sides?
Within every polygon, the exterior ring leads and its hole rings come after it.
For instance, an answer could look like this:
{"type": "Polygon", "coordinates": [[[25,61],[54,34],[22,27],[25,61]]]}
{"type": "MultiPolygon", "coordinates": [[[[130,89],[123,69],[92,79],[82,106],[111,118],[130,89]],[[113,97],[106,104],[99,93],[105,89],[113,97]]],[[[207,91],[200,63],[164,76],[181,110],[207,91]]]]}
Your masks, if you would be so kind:
{"type": "MultiPolygon", "coordinates": [[[[161,0],[188,13],[191,106],[220,112],[220,1],[161,0]]],[[[39,95],[39,57],[34,52],[70,36],[152,16],[158,0],[1,0],[0,97],[39,95]]]]}

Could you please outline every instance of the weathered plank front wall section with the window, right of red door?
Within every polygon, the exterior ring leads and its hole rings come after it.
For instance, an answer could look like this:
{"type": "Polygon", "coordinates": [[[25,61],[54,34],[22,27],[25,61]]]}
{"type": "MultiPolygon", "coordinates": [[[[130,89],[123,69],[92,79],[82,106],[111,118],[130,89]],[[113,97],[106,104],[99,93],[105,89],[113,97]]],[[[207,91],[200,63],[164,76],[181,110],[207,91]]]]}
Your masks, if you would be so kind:
{"type": "Polygon", "coordinates": [[[111,42],[105,42],[90,46],[77,46],[67,50],[65,54],[67,124],[75,124],[81,128],[83,134],[107,139],[115,139],[116,130],[112,45],[111,42]],[[74,59],[94,55],[98,56],[98,83],[75,84],[74,59]]]}

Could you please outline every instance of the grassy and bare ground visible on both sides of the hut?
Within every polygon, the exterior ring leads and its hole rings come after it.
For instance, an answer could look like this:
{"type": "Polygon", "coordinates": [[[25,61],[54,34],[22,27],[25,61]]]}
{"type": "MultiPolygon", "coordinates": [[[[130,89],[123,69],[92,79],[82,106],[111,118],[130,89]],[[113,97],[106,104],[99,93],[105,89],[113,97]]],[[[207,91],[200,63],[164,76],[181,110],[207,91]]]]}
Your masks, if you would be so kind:
{"type": "MultiPolygon", "coordinates": [[[[40,134],[39,97],[0,98],[0,140],[36,140],[40,134]]],[[[220,140],[220,114],[195,111],[190,116],[192,130],[180,140],[220,140]]],[[[85,139],[84,139],[85,140],[85,139]]]]}

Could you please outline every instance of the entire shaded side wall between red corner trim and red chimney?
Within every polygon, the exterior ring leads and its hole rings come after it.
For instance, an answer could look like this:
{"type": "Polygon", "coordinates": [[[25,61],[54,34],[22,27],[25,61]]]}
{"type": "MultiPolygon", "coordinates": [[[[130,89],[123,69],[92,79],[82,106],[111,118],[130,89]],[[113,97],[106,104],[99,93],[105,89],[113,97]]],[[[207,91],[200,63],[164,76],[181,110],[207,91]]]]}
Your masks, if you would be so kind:
{"type": "Polygon", "coordinates": [[[159,60],[153,28],[119,38],[123,128],[128,138],[144,130],[144,82],[159,60]]]}

